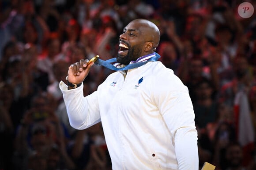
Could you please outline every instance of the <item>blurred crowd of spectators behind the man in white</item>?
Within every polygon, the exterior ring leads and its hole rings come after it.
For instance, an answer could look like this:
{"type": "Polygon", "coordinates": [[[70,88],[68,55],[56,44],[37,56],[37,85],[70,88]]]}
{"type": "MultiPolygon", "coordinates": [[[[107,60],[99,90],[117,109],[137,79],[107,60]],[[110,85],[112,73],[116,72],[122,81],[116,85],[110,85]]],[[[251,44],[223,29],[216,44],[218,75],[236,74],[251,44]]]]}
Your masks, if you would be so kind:
{"type": "MultiPolygon", "coordinates": [[[[255,170],[256,14],[241,18],[242,2],[1,0],[0,170],[111,169],[101,124],[72,128],[58,85],[80,59],[115,57],[136,18],[158,25],[156,52],[188,87],[200,168],[255,170]]],[[[84,96],[110,73],[94,65],[84,96]]]]}

